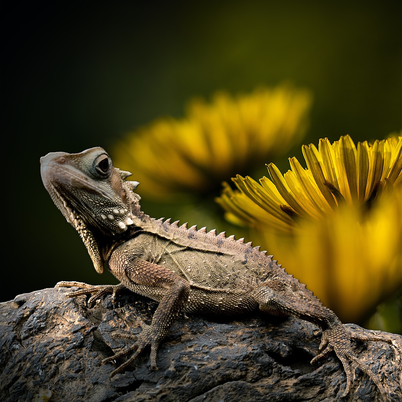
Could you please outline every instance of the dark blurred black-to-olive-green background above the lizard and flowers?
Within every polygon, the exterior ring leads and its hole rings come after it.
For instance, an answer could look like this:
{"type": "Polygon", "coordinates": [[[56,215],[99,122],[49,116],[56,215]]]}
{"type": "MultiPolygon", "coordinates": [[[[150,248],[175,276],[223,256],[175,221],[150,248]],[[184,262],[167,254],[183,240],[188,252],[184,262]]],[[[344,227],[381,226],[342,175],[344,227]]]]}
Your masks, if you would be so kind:
{"type": "Polygon", "coordinates": [[[116,283],[53,205],[41,156],[108,149],[192,96],[287,80],[314,94],[303,143],[384,138],[401,128],[400,22],[399,1],[2,1],[0,301],[116,283]]]}

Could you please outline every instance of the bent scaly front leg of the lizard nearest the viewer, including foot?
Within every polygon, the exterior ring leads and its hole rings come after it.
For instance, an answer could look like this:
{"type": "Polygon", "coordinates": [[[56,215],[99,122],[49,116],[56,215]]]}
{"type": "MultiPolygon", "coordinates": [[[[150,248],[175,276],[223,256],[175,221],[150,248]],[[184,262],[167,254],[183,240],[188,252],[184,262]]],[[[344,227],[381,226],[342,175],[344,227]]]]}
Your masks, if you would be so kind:
{"type": "Polygon", "coordinates": [[[102,363],[115,360],[136,349],[135,353],[125,361],[125,363],[117,367],[117,369],[111,373],[111,377],[113,377],[113,375],[123,371],[125,367],[131,364],[145,347],[150,346],[151,367],[157,370],[156,351],[159,343],[168,334],[169,328],[187,303],[190,293],[190,284],[187,280],[161,265],[139,258],[133,258],[131,260],[116,258],[109,264],[113,275],[120,279],[128,289],[131,289],[135,293],[148,295],[156,299],[158,298],[156,295],[159,295],[162,299],[152,318],[151,325],[144,324],[144,322],[139,319],[139,323],[142,326],[141,333],[138,335],[113,334],[115,337],[136,339],[136,341],[131,347],[104,359],[102,363]]]}

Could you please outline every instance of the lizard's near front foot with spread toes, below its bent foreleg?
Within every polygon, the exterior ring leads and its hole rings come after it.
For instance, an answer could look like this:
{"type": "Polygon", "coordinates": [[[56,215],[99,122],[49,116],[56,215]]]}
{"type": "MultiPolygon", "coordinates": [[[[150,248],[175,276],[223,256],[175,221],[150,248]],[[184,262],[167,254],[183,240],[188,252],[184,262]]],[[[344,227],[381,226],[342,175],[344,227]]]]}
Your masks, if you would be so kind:
{"type": "Polygon", "coordinates": [[[120,373],[127,366],[129,366],[148,345],[151,346],[151,354],[150,354],[151,368],[152,368],[152,370],[158,370],[158,367],[156,366],[156,351],[158,350],[158,346],[159,346],[160,340],[162,339],[162,336],[160,336],[158,334],[158,330],[156,330],[156,328],[154,328],[152,326],[152,324],[147,325],[141,320],[141,318],[138,317],[137,319],[138,319],[139,324],[142,327],[142,332],[140,332],[139,334],[137,334],[137,335],[121,334],[119,332],[115,332],[114,334],[112,334],[112,336],[115,338],[135,339],[136,341],[135,341],[134,345],[128,347],[127,349],[124,349],[111,357],[107,357],[106,359],[103,359],[102,364],[107,363],[108,361],[113,361],[119,357],[128,355],[135,349],[137,349],[137,350],[127,361],[125,361],[123,364],[121,364],[119,367],[117,367],[117,369],[112,371],[110,378],[113,377],[114,375],[116,375],[117,373],[120,373]]]}

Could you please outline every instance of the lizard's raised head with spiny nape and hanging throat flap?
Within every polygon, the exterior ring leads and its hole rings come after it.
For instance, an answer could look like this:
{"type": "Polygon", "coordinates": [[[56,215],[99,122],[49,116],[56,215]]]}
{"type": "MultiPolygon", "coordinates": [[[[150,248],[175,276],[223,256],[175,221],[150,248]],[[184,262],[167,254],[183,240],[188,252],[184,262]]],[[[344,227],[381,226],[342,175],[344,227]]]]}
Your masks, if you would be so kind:
{"type": "Polygon", "coordinates": [[[41,158],[41,176],[57,208],[80,233],[98,273],[103,261],[93,228],[117,235],[133,224],[131,203],[137,182],[125,179],[131,173],[113,167],[103,148],[79,154],[51,152],[41,158]]]}

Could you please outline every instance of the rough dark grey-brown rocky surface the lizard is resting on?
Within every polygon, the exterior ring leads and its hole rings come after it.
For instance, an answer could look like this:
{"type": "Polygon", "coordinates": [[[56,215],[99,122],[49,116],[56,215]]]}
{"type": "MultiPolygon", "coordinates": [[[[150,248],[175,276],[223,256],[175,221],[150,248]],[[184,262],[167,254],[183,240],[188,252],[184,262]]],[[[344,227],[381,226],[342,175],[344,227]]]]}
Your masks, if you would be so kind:
{"type": "MultiPolygon", "coordinates": [[[[100,362],[130,340],[113,332],[140,332],[136,316],[149,322],[156,303],[132,293],[64,299],[70,289],[44,289],[0,305],[0,400],[2,401],[373,401],[380,395],[356,369],[351,392],[341,398],[346,378],[338,359],[310,364],[320,331],[295,320],[249,315],[228,320],[178,317],[157,354],[109,379],[113,363],[100,362]],[[51,392],[50,392],[51,391],[51,392]],[[46,396],[47,395],[47,396],[46,396]]],[[[371,331],[350,324],[365,333],[371,331]]],[[[390,401],[401,400],[400,335],[394,340],[355,343],[355,351],[379,373],[390,401]]]]}

